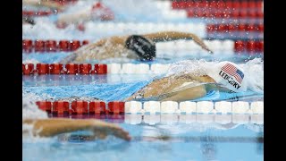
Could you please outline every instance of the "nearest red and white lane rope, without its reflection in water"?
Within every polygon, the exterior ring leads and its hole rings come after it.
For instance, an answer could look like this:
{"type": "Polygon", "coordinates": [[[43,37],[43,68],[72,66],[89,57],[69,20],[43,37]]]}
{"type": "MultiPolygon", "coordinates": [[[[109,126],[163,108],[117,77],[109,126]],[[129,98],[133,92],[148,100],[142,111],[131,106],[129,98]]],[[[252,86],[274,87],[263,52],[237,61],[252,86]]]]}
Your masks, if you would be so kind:
{"type": "Polygon", "coordinates": [[[38,101],[39,109],[55,114],[264,114],[264,102],[212,101],[38,101]]]}

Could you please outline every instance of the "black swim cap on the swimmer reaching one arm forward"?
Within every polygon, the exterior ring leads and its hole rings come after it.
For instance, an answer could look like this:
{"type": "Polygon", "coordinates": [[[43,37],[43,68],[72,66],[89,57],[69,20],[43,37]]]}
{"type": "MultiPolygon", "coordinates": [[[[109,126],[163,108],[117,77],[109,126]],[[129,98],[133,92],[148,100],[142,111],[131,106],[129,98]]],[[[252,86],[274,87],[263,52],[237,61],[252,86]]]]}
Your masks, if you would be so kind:
{"type": "Polygon", "coordinates": [[[156,57],[155,43],[139,35],[131,35],[125,42],[125,47],[134,51],[141,61],[153,60],[156,57]]]}

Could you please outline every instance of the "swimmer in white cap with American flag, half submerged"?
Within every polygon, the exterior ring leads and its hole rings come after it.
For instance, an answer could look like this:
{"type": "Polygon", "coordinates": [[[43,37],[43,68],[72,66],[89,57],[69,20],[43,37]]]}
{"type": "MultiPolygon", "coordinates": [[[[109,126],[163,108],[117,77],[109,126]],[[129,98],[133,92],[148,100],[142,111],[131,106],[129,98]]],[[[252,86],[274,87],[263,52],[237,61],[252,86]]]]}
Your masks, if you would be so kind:
{"type": "Polygon", "coordinates": [[[180,72],[153,80],[125,101],[186,101],[205,97],[211,90],[244,92],[248,89],[245,77],[240,66],[224,61],[210,66],[203,74],[180,72]]]}

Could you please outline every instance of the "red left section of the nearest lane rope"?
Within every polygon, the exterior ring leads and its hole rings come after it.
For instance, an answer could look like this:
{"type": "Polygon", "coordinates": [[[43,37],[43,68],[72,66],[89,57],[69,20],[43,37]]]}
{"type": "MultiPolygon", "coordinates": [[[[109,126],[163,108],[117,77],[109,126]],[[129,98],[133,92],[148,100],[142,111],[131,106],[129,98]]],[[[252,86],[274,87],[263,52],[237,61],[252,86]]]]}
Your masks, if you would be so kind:
{"type": "Polygon", "coordinates": [[[48,114],[124,114],[125,102],[108,102],[106,106],[103,101],[37,101],[36,105],[48,114]]]}

